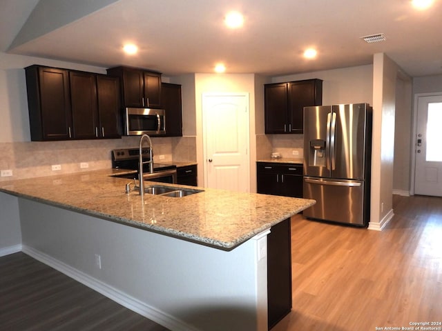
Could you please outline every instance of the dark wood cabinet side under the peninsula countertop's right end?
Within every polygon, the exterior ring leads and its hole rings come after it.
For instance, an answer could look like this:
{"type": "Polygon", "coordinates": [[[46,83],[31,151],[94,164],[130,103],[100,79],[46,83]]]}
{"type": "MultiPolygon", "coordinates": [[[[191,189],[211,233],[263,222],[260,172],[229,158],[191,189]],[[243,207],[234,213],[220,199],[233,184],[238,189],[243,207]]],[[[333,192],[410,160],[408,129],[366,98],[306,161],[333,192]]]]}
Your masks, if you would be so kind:
{"type": "Polygon", "coordinates": [[[267,236],[267,300],[269,330],[291,311],[291,224],[286,219],[267,236]]]}

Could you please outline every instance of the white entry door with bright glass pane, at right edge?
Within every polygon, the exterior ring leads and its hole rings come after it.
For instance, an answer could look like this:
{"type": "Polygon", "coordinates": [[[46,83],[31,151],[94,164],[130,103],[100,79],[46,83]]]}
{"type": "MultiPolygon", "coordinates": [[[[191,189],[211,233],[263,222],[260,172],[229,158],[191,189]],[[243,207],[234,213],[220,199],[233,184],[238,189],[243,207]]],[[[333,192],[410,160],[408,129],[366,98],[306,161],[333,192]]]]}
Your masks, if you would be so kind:
{"type": "Polygon", "coordinates": [[[442,95],[417,101],[414,193],[442,197],[442,95]]]}

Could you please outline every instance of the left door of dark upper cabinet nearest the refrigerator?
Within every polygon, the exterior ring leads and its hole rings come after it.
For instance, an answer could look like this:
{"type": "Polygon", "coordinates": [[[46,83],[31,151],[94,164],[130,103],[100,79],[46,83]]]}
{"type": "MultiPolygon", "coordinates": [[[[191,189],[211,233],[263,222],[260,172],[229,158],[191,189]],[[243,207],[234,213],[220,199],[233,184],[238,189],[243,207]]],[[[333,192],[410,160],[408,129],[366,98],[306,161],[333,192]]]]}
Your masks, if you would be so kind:
{"type": "Polygon", "coordinates": [[[287,83],[266,84],[264,98],[265,133],[287,132],[287,83]]]}

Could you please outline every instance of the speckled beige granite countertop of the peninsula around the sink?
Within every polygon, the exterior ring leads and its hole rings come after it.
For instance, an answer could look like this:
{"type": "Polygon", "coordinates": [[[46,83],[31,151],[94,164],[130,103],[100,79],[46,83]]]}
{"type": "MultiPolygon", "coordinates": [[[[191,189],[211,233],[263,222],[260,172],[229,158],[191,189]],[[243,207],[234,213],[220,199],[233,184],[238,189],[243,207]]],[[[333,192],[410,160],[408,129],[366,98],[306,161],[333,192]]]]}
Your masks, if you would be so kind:
{"type": "MultiPolygon", "coordinates": [[[[0,191],[171,237],[231,250],[314,200],[201,188],[187,197],[125,192],[124,170],[95,170],[0,183],[0,191]]],[[[148,185],[185,185],[155,183],[148,185]]]]}

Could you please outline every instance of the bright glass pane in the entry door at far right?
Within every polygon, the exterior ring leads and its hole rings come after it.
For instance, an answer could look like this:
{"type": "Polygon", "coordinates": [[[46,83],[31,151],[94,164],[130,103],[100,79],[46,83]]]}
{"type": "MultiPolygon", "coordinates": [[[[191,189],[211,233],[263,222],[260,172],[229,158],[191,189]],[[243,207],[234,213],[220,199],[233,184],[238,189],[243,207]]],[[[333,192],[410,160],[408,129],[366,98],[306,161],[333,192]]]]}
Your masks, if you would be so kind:
{"type": "Polygon", "coordinates": [[[442,103],[428,103],[426,161],[442,161],[442,103]]]}

